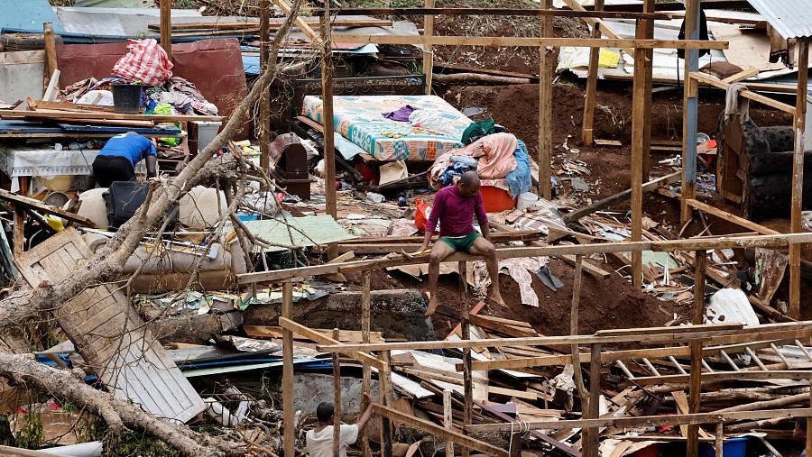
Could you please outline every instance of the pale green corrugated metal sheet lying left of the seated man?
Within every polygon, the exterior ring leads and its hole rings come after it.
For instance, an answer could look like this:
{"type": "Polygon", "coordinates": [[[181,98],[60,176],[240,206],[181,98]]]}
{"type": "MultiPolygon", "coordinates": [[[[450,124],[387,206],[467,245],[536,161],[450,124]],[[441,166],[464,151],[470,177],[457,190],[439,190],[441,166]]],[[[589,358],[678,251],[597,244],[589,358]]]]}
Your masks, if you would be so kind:
{"type": "MultiPolygon", "coordinates": [[[[342,242],[355,238],[344,230],[330,215],[309,215],[306,217],[288,217],[288,226],[281,221],[269,219],[266,221],[248,221],[245,226],[254,235],[269,242],[305,247],[330,242],[342,242]]],[[[255,251],[287,251],[284,247],[257,246],[255,251]]]]}

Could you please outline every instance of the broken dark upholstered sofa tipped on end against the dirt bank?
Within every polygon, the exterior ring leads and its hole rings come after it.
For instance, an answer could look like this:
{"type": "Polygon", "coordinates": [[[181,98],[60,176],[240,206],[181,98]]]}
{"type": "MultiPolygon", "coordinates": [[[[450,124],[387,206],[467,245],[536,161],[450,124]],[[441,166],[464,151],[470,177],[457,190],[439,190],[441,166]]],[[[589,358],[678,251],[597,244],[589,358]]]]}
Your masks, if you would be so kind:
{"type": "MultiPolygon", "coordinates": [[[[786,217],[792,195],[795,146],[791,127],[759,127],[734,114],[719,122],[716,192],[742,206],[749,219],[786,217]]],[[[812,172],[812,151],[804,153],[804,171],[812,172]]],[[[812,207],[812,180],[803,185],[804,207],[812,207]]]]}

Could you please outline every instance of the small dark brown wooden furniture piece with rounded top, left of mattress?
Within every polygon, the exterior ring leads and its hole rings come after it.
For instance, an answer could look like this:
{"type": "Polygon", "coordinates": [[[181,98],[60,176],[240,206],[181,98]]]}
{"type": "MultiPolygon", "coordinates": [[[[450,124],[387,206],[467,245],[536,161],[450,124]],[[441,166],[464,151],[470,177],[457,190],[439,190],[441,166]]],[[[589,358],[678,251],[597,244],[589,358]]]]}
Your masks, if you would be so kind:
{"type": "Polygon", "coordinates": [[[310,175],[308,153],[295,133],[284,133],[276,137],[270,145],[272,161],[276,165],[271,171],[276,183],[289,194],[302,200],[310,199],[310,175]]]}

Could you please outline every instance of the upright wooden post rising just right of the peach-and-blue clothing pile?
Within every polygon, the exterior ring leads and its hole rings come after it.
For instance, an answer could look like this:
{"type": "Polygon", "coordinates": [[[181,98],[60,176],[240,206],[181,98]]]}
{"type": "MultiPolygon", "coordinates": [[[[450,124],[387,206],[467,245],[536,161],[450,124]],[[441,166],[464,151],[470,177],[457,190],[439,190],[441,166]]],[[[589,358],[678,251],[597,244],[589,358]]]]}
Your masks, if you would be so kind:
{"type": "MultiPolygon", "coordinates": [[[[542,9],[550,9],[552,0],[540,0],[542,9]]],[[[551,37],[553,18],[540,16],[540,36],[551,37]]],[[[546,46],[539,47],[539,195],[552,197],[550,154],[552,154],[552,63],[553,56],[546,46]]]]}

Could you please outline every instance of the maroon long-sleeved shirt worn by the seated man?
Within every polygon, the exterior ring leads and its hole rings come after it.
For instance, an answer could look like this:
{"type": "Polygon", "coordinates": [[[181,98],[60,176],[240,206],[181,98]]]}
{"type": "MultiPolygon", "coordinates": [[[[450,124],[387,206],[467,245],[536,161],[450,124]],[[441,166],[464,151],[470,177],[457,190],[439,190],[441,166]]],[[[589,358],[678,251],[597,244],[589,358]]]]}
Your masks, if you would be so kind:
{"type": "Polygon", "coordinates": [[[460,197],[457,186],[441,188],[434,196],[426,232],[434,233],[440,223],[440,236],[464,236],[474,233],[474,215],[480,225],[487,226],[488,215],[484,210],[482,193],[475,197],[460,197]]]}

